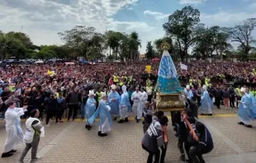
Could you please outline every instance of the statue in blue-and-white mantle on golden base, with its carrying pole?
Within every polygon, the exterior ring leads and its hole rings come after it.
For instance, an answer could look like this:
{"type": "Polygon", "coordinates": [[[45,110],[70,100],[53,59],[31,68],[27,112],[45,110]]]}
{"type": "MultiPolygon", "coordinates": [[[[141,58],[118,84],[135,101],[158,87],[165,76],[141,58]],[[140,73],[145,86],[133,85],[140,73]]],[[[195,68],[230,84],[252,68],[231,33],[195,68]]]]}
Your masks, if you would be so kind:
{"type": "MultiPolygon", "coordinates": [[[[180,111],[182,115],[185,115],[185,104],[180,98],[180,95],[183,94],[183,87],[178,81],[177,70],[172,57],[168,53],[170,45],[163,43],[161,44],[161,49],[164,50],[164,53],[160,61],[158,81],[155,87],[156,109],[164,112],[180,111]]],[[[198,140],[197,134],[192,129],[186,117],[187,116],[185,116],[184,121],[187,127],[190,129],[192,136],[198,140]]]]}

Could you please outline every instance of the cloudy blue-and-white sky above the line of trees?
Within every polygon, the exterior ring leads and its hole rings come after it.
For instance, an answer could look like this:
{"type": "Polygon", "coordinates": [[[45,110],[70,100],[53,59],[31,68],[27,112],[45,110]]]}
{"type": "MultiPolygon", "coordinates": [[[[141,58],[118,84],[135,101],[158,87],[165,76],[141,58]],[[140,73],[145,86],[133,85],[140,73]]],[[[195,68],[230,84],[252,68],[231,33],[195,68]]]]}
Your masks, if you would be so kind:
{"type": "Polygon", "coordinates": [[[164,37],[168,16],[188,5],[201,12],[206,26],[235,26],[256,17],[256,0],[0,0],[0,30],[24,32],[37,45],[64,44],[58,32],[78,25],[136,31],[145,54],[148,41],[164,37]]]}

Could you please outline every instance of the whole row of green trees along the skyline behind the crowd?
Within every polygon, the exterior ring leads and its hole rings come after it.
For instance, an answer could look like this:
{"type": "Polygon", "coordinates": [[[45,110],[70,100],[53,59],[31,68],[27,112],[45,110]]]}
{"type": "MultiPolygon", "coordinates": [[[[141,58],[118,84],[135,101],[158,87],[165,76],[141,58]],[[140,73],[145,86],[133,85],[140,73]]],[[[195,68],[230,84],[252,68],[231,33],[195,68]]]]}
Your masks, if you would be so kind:
{"type": "MultiPolygon", "coordinates": [[[[183,7],[168,16],[163,25],[165,35],[157,40],[148,41],[145,57],[161,57],[163,50],[160,45],[167,42],[171,45],[169,53],[173,60],[187,61],[187,58],[255,58],[256,48],[253,31],[256,18],[249,18],[233,27],[206,26],[201,23],[201,13],[191,6],[183,7]],[[232,44],[238,43],[234,49],[232,44]],[[190,53],[192,52],[192,53],[190,53]]],[[[74,26],[71,30],[59,32],[64,41],[61,45],[40,45],[32,43],[30,37],[21,32],[0,30],[1,59],[24,58],[76,59],[83,57],[88,60],[108,58],[139,59],[141,40],[136,31],[130,34],[108,30],[98,32],[92,26],[74,26]]]]}

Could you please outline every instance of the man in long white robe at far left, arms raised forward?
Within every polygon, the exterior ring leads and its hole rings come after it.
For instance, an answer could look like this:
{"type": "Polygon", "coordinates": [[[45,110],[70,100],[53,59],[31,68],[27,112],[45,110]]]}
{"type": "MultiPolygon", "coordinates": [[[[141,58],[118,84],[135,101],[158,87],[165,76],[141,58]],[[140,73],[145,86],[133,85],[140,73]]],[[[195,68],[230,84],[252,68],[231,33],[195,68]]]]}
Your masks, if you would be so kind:
{"type": "Polygon", "coordinates": [[[10,101],[8,104],[8,109],[5,113],[6,119],[6,131],[7,131],[7,141],[4,144],[2,157],[12,156],[14,152],[14,147],[23,142],[23,132],[21,129],[21,115],[26,112],[27,106],[23,108],[16,108],[16,103],[10,101]]]}

